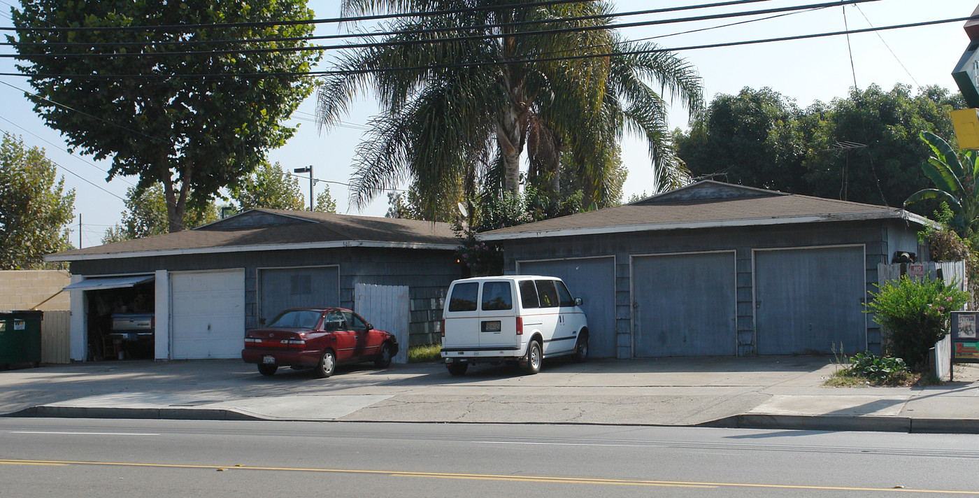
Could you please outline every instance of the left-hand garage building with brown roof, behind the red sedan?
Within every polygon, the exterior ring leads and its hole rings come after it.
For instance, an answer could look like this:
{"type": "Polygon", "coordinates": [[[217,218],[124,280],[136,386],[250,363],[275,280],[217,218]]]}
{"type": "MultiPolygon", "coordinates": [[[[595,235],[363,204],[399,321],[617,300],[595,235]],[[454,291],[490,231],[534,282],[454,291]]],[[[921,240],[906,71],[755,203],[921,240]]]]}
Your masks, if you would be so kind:
{"type": "MultiPolygon", "coordinates": [[[[409,343],[402,346],[438,341],[443,294],[462,274],[457,247],[447,223],[252,209],[194,230],[47,259],[69,261],[77,278],[155,276],[155,283],[146,285],[156,290],[150,299],[156,303],[159,338],[154,357],[233,358],[241,353],[245,331],[282,309],[355,309],[356,284],[408,287],[403,305],[410,321],[398,328],[409,343]],[[215,276],[232,273],[234,286],[215,276]],[[212,292],[194,294],[201,282],[212,292]],[[223,289],[228,286],[233,289],[223,289]],[[230,325],[209,322],[210,315],[225,316],[230,325]]],[[[98,340],[91,340],[89,331],[96,334],[98,323],[89,314],[97,293],[72,292],[80,297],[72,297],[72,359],[95,356],[98,340]]]]}

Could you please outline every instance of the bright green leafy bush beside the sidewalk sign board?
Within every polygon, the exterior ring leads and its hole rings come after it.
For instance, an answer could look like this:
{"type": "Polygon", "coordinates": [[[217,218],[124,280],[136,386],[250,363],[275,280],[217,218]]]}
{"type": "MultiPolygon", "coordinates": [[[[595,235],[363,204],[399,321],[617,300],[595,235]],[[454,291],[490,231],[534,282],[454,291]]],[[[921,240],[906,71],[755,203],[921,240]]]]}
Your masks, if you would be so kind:
{"type": "Polygon", "coordinates": [[[960,309],[968,294],[941,280],[915,282],[907,276],[877,286],[866,305],[874,320],[887,330],[887,356],[903,358],[916,372],[928,362],[928,349],[949,334],[949,314],[960,309]]]}

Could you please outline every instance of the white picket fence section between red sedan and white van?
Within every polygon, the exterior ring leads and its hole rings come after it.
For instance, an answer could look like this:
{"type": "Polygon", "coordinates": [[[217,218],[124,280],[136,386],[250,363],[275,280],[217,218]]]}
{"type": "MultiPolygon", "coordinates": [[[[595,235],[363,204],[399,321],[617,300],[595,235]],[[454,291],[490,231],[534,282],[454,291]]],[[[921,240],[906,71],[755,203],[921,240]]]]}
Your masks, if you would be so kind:
{"type": "Polygon", "coordinates": [[[407,286],[353,285],[353,310],[376,329],[390,332],[397,338],[400,349],[395,363],[408,362],[408,322],[411,320],[411,301],[407,286]]]}

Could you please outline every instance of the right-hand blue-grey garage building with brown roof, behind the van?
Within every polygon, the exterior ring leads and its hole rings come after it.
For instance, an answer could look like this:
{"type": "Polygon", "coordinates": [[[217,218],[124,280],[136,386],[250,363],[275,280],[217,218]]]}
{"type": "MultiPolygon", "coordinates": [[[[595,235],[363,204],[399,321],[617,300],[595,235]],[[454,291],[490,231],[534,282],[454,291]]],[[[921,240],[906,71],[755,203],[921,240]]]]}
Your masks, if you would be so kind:
{"type": "Polygon", "coordinates": [[[518,261],[520,272],[534,260],[615,261],[614,305],[597,313],[615,317],[619,358],[805,354],[834,343],[879,352],[880,331],[862,313],[877,263],[918,252],[928,223],[894,207],[704,181],[480,238],[502,246],[506,273],[518,261]]]}

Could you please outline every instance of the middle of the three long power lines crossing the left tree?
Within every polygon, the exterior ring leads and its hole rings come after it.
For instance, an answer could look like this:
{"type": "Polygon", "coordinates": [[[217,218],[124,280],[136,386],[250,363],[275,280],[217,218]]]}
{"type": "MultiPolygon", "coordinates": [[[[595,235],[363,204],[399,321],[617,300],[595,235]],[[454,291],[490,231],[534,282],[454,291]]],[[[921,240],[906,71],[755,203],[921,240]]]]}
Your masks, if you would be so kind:
{"type": "MultiPolygon", "coordinates": [[[[739,0],[740,2],[757,2],[764,0],[739,0]]],[[[808,4],[808,5],[797,5],[790,7],[778,7],[772,9],[761,9],[755,11],[741,11],[741,12],[731,12],[723,14],[711,14],[706,16],[693,16],[687,18],[673,18],[666,20],[654,20],[654,21],[642,21],[635,23],[621,23],[621,24],[594,24],[594,25],[583,25],[583,26],[573,26],[573,27],[561,27],[553,29],[539,29],[532,31],[520,31],[520,32],[508,32],[508,33],[485,33],[485,34],[475,34],[467,36],[451,36],[447,38],[434,38],[434,39],[413,39],[413,40],[399,40],[399,41],[383,41],[383,42],[370,42],[370,43],[349,43],[344,45],[302,45],[296,47],[272,47],[272,48],[252,48],[252,49],[225,49],[225,50],[202,50],[202,51],[175,51],[175,52],[123,52],[123,53],[44,53],[44,54],[31,54],[29,56],[22,56],[19,54],[0,54],[0,58],[7,59],[22,59],[22,60],[33,60],[33,59],[59,59],[59,58],[127,58],[127,57],[163,57],[163,56],[186,56],[186,55],[200,55],[200,56],[220,56],[220,55],[243,55],[243,54],[268,54],[268,53],[290,53],[290,52],[320,52],[327,50],[345,50],[345,49],[356,49],[356,48],[377,48],[377,47],[387,47],[387,46],[413,46],[422,44],[434,44],[434,43],[446,43],[446,42],[458,42],[458,41],[472,41],[472,40],[489,40],[497,38],[509,38],[516,36],[540,36],[548,34],[561,34],[568,32],[581,32],[581,31],[596,31],[596,30],[606,30],[606,29],[623,29],[629,27],[642,27],[650,25],[659,24],[672,24],[672,23],[694,23],[700,21],[713,21],[719,19],[729,19],[738,18],[746,16],[760,16],[766,14],[782,13],[782,12],[792,12],[792,11],[804,11],[812,10],[823,7],[837,7],[843,6],[847,3],[862,3],[862,2],[877,2],[879,0],[834,0],[832,2],[823,2],[818,4],[808,4]]],[[[676,9],[676,8],[674,8],[676,9]]],[[[661,9],[660,11],[665,11],[661,9]]],[[[651,13],[654,11],[642,11],[642,14],[651,13]]],[[[629,15],[635,15],[636,12],[629,13],[629,15]]],[[[614,17],[614,15],[608,15],[609,17],[614,17]]],[[[572,18],[573,20],[584,20],[590,17],[583,18],[572,18]]],[[[548,20],[546,23],[556,23],[562,20],[548,20]]],[[[488,26],[479,26],[480,29],[485,27],[494,27],[502,25],[519,25],[524,23],[510,23],[510,24],[495,24],[488,26]]],[[[448,28],[449,30],[459,30],[459,27],[448,28]]],[[[443,31],[445,28],[439,29],[418,29],[410,31],[411,34],[430,34],[433,32],[443,31]]],[[[396,34],[393,31],[392,34],[396,34]]],[[[87,47],[85,44],[79,44],[87,47]]]]}

